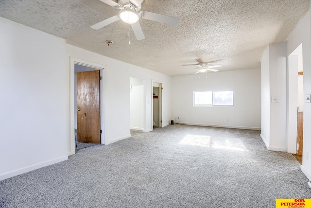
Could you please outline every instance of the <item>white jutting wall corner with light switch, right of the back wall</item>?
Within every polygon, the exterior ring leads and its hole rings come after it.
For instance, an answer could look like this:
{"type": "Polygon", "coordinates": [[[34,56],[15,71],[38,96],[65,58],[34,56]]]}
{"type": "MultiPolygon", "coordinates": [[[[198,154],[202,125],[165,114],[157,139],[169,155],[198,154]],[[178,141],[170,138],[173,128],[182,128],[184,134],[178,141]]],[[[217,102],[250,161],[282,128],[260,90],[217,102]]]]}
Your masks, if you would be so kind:
{"type": "Polygon", "coordinates": [[[263,52],[261,90],[260,136],[268,150],[286,151],[286,43],[269,45],[263,52]]]}

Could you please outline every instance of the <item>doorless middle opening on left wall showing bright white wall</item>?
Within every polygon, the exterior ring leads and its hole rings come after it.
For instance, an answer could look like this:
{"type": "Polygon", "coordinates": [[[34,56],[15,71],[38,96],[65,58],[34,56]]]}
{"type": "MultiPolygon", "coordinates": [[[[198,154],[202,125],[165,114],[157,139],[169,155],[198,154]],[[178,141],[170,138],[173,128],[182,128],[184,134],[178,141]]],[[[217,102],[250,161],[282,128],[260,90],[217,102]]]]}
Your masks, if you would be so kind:
{"type": "Polygon", "coordinates": [[[132,136],[143,133],[144,130],[144,85],[144,80],[130,77],[130,130],[132,136]]]}

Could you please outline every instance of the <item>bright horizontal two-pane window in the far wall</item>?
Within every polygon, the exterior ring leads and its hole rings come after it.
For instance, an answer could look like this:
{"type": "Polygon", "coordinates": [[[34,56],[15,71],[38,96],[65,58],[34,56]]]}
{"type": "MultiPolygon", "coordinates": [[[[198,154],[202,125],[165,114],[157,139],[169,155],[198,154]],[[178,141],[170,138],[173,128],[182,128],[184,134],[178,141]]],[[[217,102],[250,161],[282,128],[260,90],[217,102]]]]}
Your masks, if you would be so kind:
{"type": "Polygon", "coordinates": [[[233,90],[193,91],[193,106],[233,105],[233,90]]]}

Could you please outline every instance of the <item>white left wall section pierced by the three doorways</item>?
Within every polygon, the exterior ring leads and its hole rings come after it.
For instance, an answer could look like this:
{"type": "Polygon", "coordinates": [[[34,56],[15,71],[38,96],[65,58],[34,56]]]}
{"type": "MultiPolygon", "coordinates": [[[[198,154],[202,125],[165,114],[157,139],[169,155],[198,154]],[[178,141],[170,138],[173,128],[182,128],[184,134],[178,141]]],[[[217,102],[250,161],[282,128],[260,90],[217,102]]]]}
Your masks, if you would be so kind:
{"type": "MultiPolygon", "coordinates": [[[[67,69],[71,70],[69,69],[69,57],[83,59],[106,66],[106,68],[103,70],[105,144],[109,144],[121,139],[126,139],[131,136],[129,90],[130,77],[145,80],[144,102],[146,108],[144,109],[144,131],[152,131],[152,79],[160,80],[163,83],[162,86],[165,88],[165,90],[162,91],[162,114],[164,124],[169,124],[169,121],[172,117],[170,99],[172,78],[170,76],[117,61],[115,59],[66,44],[66,60],[68,61],[67,69]],[[125,130],[124,127],[126,127],[125,130]]],[[[74,79],[72,77],[72,81],[73,80],[74,79]]],[[[70,147],[68,148],[68,151],[70,151],[70,147]]]]}

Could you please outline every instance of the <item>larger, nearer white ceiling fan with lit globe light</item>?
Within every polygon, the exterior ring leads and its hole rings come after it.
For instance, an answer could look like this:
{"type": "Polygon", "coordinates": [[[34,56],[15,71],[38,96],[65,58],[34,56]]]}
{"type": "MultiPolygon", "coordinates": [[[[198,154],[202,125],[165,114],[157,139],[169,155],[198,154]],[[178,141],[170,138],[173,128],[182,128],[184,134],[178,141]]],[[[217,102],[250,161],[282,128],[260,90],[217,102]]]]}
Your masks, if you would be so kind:
{"type": "Polygon", "coordinates": [[[157,13],[147,11],[140,11],[138,13],[138,11],[141,8],[141,3],[143,0],[130,0],[130,1],[118,0],[118,3],[113,0],[101,0],[101,1],[116,9],[121,10],[119,12],[119,15],[107,18],[104,21],[92,25],[91,28],[96,30],[121,19],[123,22],[128,23],[132,26],[136,39],[142,40],[145,39],[145,35],[143,34],[140,24],[138,22],[140,17],[143,19],[149,19],[161,23],[170,24],[173,26],[176,26],[179,22],[179,19],[176,17],[160,15],[157,13]]]}

